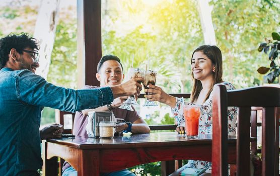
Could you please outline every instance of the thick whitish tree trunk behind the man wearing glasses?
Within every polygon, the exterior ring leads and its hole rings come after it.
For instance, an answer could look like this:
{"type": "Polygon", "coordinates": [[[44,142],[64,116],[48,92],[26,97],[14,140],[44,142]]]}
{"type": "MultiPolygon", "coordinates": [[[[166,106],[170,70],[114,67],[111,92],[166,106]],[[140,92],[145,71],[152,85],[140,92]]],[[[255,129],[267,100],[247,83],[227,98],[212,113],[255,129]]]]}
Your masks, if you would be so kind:
{"type": "Polygon", "coordinates": [[[40,44],[40,67],[36,74],[47,78],[49,71],[49,64],[51,59],[51,52],[53,49],[55,30],[58,23],[58,11],[60,0],[41,0],[41,7],[38,12],[36,21],[34,38],[40,44]]]}

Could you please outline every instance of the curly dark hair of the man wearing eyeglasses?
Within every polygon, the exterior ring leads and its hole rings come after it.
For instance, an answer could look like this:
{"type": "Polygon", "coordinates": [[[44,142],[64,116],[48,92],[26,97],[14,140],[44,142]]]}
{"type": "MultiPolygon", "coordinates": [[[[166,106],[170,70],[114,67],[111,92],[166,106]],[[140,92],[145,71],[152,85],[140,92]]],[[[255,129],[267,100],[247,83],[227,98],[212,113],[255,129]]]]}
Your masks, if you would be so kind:
{"type": "Polygon", "coordinates": [[[9,34],[0,39],[0,69],[2,69],[9,60],[11,49],[15,48],[18,53],[22,54],[25,48],[38,50],[40,48],[37,40],[29,37],[27,33],[9,34]]]}

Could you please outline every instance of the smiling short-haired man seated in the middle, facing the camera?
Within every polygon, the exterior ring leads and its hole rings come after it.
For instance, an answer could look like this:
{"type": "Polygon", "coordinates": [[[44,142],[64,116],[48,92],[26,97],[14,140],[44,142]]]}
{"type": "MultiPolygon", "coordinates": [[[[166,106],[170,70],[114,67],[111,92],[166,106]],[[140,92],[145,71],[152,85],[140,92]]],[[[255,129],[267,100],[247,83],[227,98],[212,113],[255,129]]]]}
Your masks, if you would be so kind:
{"type": "MultiPolygon", "coordinates": [[[[100,87],[116,86],[122,83],[123,72],[120,59],[114,55],[106,55],[101,58],[97,65],[96,78],[100,81],[100,87]]],[[[95,86],[86,85],[84,89],[95,89],[95,86]]],[[[86,125],[88,123],[87,116],[90,111],[112,111],[115,118],[123,121],[117,124],[117,132],[131,132],[131,133],[150,133],[150,128],[147,123],[139,117],[137,112],[128,111],[118,108],[125,101],[126,97],[119,97],[115,99],[110,105],[99,107],[96,109],[83,110],[82,112],[76,112],[74,119],[73,134],[77,136],[88,136],[86,131],[86,125]]],[[[63,176],[77,175],[77,171],[68,163],[63,164],[63,176]]],[[[103,173],[102,175],[134,175],[127,169],[103,173]]]]}

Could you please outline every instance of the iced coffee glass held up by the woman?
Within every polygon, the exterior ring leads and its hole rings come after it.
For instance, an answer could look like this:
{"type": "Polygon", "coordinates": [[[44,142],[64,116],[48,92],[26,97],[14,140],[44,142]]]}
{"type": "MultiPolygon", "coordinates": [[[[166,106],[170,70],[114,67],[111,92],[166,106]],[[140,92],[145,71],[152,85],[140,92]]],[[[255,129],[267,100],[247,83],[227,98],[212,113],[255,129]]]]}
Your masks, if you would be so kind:
{"type": "MultiPolygon", "coordinates": [[[[157,71],[148,70],[145,72],[144,76],[144,87],[149,89],[148,85],[156,85],[157,71]]],[[[152,95],[153,93],[146,93],[146,95],[152,95]]],[[[156,102],[146,99],[146,102],[143,106],[158,106],[156,102]]]]}

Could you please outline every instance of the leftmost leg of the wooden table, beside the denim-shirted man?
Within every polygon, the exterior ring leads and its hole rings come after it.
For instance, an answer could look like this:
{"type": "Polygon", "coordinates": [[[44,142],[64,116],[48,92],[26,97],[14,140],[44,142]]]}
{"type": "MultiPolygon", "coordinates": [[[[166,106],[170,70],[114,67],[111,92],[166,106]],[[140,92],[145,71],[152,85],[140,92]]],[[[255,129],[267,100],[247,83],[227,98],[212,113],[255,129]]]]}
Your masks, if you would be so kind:
{"type": "Polygon", "coordinates": [[[43,150],[43,176],[52,176],[57,175],[57,169],[58,169],[58,162],[57,157],[53,157],[50,159],[47,159],[47,143],[46,141],[42,142],[42,150],[43,150]]]}

